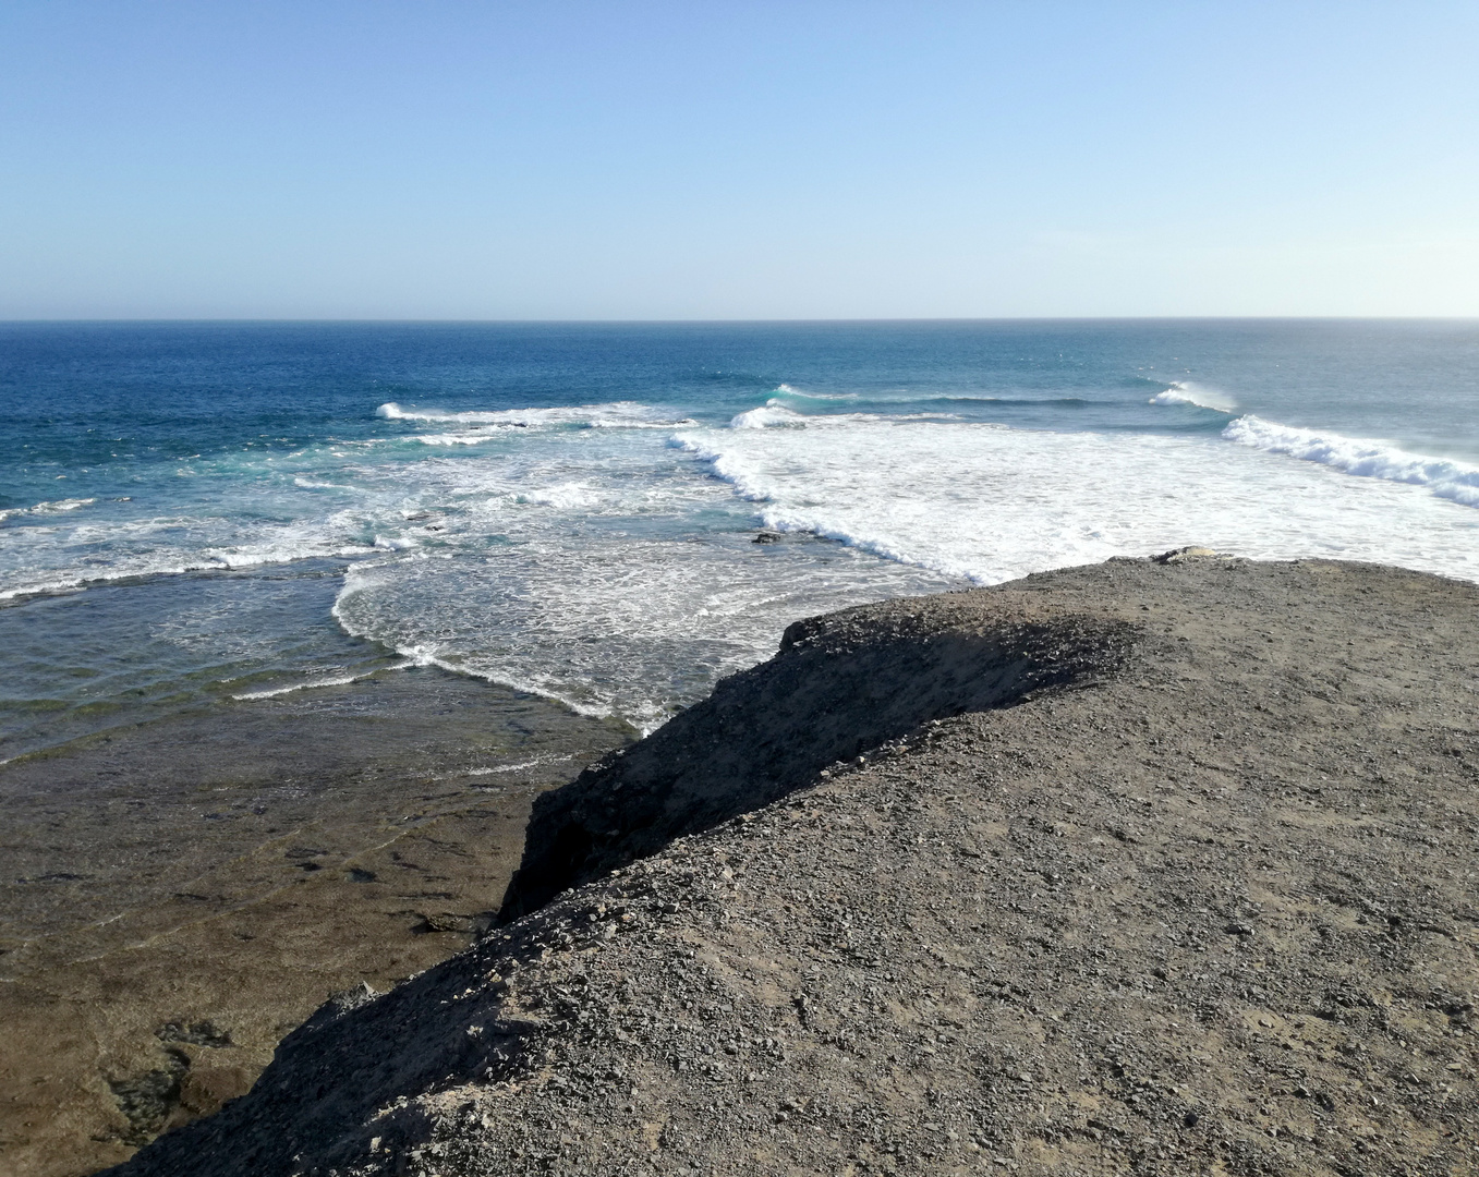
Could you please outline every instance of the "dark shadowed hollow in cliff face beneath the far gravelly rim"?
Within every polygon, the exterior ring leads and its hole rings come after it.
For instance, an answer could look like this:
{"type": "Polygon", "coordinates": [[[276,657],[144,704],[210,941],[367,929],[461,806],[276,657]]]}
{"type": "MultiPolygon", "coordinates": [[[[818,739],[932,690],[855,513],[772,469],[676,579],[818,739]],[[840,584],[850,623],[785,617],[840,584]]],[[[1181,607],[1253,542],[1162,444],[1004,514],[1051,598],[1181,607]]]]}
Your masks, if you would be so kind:
{"type": "Polygon", "coordinates": [[[507,923],[683,834],[769,804],[921,723],[1118,665],[1130,627],[914,602],[797,621],[769,662],[534,803],[507,923]]]}

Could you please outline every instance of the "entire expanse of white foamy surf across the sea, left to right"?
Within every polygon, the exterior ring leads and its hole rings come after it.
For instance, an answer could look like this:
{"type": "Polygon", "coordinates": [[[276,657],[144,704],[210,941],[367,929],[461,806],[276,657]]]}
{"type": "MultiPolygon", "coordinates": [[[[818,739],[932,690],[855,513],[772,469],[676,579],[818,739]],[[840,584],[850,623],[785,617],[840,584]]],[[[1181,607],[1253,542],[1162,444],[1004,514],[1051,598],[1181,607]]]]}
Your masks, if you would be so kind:
{"type": "Polygon", "coordinates": [[[396,408],[426,436],[473,441],[234,458],[248,478],[219,501],[191,500],[191,516],[104,526],[62,510],[46,522],[55,535],[6,531],[0,594],[349,556],[359,562],[333,609],[348,633],[649,730],[768,657],[797,617],[960,578],[1205,543],[1479,580],[1479,516],[1430,494],[1432,472],[1404,485],[1232,435],[1055,433],[790,404],[661,433],[658,410],[629,402],[476,414],[500,420],[396,408]],[[553,427],[623,414],[639,427],[553,427]],[[485,436],[500,444],[479,450],[485,436]],[[843,543],[751,544],[756,523],[843,543]]]}

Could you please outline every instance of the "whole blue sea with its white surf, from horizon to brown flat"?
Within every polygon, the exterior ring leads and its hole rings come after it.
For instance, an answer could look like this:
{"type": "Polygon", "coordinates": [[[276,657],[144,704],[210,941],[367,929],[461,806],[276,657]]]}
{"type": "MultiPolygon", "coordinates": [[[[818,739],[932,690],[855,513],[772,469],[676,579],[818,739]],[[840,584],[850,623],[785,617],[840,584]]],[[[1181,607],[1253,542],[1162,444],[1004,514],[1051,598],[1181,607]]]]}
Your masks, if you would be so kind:
{"type": "Polygon", "coordinates": [[[7,324],[0,398],[0,760],[405,665],[649,729],[1188,543],[1479,580],[1473,322],[7,324]]]}

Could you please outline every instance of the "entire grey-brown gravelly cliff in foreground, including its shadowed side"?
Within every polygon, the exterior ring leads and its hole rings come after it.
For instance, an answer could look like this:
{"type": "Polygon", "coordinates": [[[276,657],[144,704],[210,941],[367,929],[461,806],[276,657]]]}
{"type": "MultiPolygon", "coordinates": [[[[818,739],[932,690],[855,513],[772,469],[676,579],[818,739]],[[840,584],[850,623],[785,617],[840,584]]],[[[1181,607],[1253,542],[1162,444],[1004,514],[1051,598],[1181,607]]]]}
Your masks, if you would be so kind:
{"type": "Polygon", "coordinates": [[[109,1173],[1473,1173],[1476,617],[1182,554],[803,623],[109,1173]]]}

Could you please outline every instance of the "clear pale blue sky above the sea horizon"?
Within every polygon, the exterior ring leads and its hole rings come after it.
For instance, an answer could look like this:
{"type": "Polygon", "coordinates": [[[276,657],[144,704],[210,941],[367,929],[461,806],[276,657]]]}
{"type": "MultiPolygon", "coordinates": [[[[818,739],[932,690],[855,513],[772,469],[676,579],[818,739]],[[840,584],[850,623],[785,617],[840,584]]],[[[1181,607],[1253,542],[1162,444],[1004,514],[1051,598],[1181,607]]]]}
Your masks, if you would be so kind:
{"type": "Polygon", "coordinates": [[[1472,0],[6,0],[0,318],[1473,316],[1475,62],[1472,0]]]}

